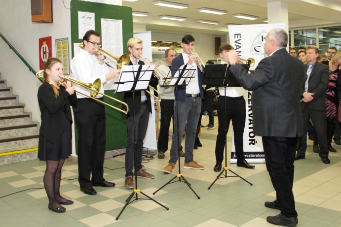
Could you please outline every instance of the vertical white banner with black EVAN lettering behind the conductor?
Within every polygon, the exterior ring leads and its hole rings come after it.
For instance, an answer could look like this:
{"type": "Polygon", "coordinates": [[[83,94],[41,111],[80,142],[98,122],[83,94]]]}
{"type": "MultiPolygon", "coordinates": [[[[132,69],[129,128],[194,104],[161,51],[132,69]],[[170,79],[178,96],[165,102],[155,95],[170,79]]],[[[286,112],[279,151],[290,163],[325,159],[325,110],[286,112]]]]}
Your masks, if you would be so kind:
{"type": "MultiPolygon", "coordinates": [[[[250,67],[254,70],[258,63],[266,57],[264,52],[265,36],[272,28],[285,29],[285,24],[261,24],[261,25],[233,25],[228,26],[230,44],[238,52],[242,59],[253,58],[255,65],[250,67]]],[[[252,92],[247,91],[244,95],[246,118],[243,135],[244,156],[247,162],[265,162],[262,137],[253,132],[252,115],[252,92]]],[[[232,133],[231,163],[237,162],[235,156],[234,138],[232,133]]]]}

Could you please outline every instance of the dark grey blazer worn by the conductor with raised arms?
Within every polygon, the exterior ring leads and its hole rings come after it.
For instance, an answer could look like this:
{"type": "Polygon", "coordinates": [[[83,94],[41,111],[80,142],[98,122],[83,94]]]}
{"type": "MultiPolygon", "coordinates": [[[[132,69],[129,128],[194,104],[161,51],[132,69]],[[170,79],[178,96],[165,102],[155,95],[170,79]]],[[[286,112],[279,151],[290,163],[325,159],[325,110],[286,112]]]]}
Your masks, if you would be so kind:
{"type": "Polygon", "coordinates": [[[230,70],[243,88],[253,91],[256,135],[297,137],[303,134],[300,100],[304,68],[300,60],[283,48],[264,58],[250,75],[238,64],[230,70]]]}

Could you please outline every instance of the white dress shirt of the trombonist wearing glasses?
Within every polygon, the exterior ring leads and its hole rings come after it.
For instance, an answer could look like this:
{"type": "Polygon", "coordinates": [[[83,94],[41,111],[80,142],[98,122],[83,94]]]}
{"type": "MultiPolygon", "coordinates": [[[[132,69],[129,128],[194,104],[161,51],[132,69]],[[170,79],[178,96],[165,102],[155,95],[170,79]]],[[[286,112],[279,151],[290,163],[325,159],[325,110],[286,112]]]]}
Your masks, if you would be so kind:
{"type": "MultiPolygon", "coordinates": [[[[96,79],[101,79],[102,86],[101,86],[101,93],[104,93],[103,83],[107,82],[105,74],[109,72],[109,68],[107,65],[103,64],[100,65],[98,59],[95,55],[91,55],[89,52],[80,49],[78,54],[71,60],[71,75],[76,80],[86,82],[86,83],[93,83],[96,79]]],[[[90,96],[90,92],[88,89],[83,88],[80,85],[73,83],[76,90],[84,93],[85,95],[90,96]]],[[[76,93],[77,98],[86,98],[85,96],[76,93]]],[[[102,95],[98,94],[97,98],[103,97],[102,95]]]]}

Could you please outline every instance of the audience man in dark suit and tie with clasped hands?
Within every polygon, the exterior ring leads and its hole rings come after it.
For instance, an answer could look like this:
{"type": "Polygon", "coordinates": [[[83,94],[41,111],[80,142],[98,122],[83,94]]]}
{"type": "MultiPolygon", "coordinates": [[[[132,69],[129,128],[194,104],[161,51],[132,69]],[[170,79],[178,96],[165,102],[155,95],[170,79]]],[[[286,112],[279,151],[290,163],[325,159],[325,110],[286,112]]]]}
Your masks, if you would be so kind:
{"type": "Polygon", "coordinates": [[[308,46],[306,48],[307,64],[303,78],[301,110],[303,115],[303,135],[299,138],[299,145],[295,160],[304,159],[306,151],[306,133],[311,118],[320,145],[319,156],[323,163],[329,164],[327,121],[325,94],[328,87],[328,66],[318,63],[318,48],[308,46]]]}

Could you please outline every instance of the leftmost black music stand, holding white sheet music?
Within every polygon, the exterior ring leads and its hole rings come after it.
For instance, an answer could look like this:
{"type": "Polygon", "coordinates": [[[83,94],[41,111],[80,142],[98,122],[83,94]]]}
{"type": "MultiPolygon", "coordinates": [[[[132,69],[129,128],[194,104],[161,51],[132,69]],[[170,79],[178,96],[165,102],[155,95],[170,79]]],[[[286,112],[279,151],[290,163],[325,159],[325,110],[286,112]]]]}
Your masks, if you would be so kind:
{"type": "MultiPolygon", "coordinates": [[[[125,93],[125,92],[132,92],[133,93],[133,106],[135,106],[135,92],[146,90],[148,88],[149,81],[152,77],[153,67],[150,69],[151,65],[123,65],[121,75],[117,82],[116,93],[125,93]],[[134,66],[137,66],[135,68],[134,66]],[[132,67],[132,70],[130,69],[132,67]],[[124,75],[130,74],[130,76],[124,75]],[[133,76],[133,77],[132,77],[133,76]],[[121,86],[120,86],[121,85],[121,86]],[[123,88],[122,88],[123,87],[123,88]]],[[[152,200],[153,202],[159,204],[160,206],[164,207],[166,210],[169,210],[168,207],[162,205],[152,197],[144,194],[140,189],[137,187],[137,171],[136,171],[136,130],[135,130],[135,108],[133,108],[133,119],[134,119],[134,174],[135,174],[135,189],[133,192],[128,196],[125,200],[126,203],[123,206],[122,210],[119,212],[118,216],[116,217],[116,221],[118,220],[119,216],[124,211],[125,207],[134,202],[138,199],[146,199],[152,200]],[[139,198],[138,193],[146,196],[147,198],[139,198]],[[130,201],[133,196],[135,195],[134,199],[130,201]]]]}

